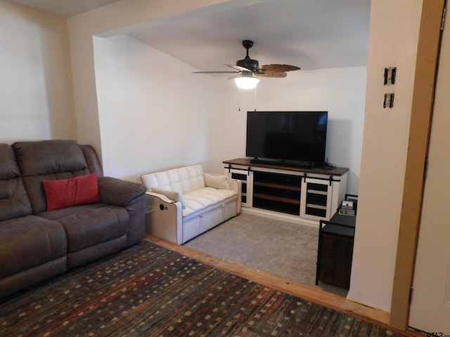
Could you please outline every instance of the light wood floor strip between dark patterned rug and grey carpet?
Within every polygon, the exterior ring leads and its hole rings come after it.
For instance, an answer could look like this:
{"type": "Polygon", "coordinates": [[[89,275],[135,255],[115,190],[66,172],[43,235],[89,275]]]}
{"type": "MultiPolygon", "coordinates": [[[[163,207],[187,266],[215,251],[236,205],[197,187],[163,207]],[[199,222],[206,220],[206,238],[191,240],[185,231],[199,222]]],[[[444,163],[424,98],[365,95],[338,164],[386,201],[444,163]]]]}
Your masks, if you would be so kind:
{"type": "MultiPolygon", "coordinates": [[[[201,262],[207,265],[211,265],[212,267],[217,267],[218,269],[225,270],[226,272],[231,272],[234,275],[239,275],[254,282],[270,286],[271,288],[285,291],[286,293],[291,293],[294,296],[298,296],[306,300],[311,300],[314,303],[319,303],[329,308],[333,308],[341,312],[346,312],[349,315],[366,319],[369,322],[373,322],[375,324],[388,326],[387,322],[389,320],[389,312],[385,312],[384,310],[370,308],[366,305],[355,303],[333,293],[328,293],[321,289],[315,289],[304,284],[292,282],[289,279],[283,279],[282,277],[277,277],[267,272],[253,270],[249,267],[245,267],[244,265],[210,256],[206,253],[196,251],[195,249],[181,246],[179,244],[174,244],[172,242],[167,242],[148,234],[146,234],[146,240],[158,244],[159,246],[163,246],[167,249],[171,249],[172,251],[178,251],[179,253],[188,256],[189,258],[195,258],[196,260],[200,260],[201,262]]],[[[401,332],[406,333],[406,336],[425,336],[422,333],[411,330],[401,332]]]]}

